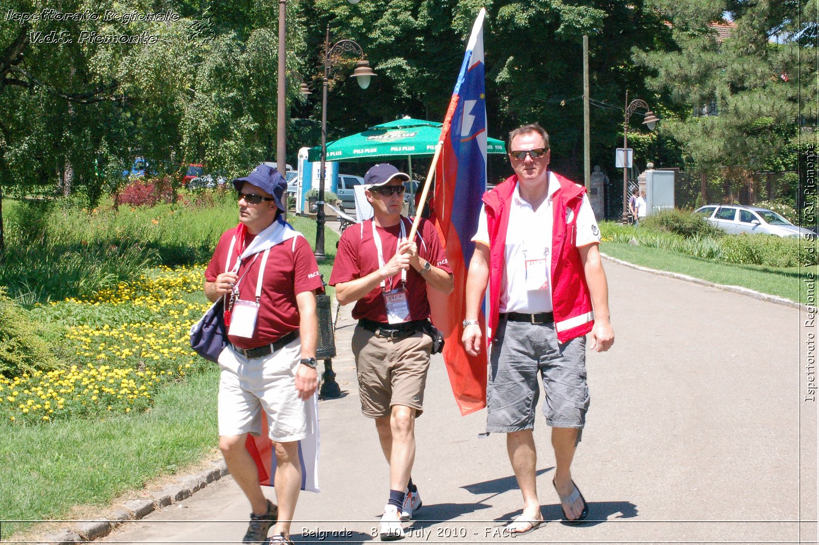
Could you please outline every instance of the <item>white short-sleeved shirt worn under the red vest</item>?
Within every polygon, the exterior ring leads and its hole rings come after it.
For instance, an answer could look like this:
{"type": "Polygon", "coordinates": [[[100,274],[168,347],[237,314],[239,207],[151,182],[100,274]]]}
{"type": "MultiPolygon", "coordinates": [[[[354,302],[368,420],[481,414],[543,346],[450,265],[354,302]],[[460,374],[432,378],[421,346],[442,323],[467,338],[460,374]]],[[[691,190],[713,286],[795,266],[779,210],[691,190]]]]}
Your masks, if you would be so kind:
{"type": "MultiPolygon", "coordinates": [[[[551,251],[552,251],[552,197],[560,182],[549,172],[549,194],[537,210],[526,202],[514,188],[510,201],[509,227],[506,229],[506,267],[500,281],[500,312],[552,311],[551,251]]],[[[571,210],[567,207],[567,216],[571,210]]],[[[567,220],[570,220],[567,217],[567,220]]],[[[489,230],[486,225],[486,207],[481,208],[473,242],[488,247],[489,230]]],[[[595,213],[586,195],[577,214],[575,246],[600,243],[600,229],[595,213]]]]}

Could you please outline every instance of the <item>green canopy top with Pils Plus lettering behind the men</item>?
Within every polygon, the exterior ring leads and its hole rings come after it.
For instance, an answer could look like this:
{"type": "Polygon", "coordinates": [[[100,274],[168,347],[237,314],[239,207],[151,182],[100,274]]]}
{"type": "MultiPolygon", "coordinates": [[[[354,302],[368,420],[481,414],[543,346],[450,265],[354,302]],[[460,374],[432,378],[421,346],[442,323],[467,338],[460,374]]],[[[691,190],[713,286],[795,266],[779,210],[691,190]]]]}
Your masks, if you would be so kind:
{"type": "MultiPolygon", "coordinates": [[[[327,161],[374,162],[391,157],[432,157],[441,138],[441,125],[405,117],[375,125],[358,134],[327,144],[327,161]]],[[[506,146],[498,139],[486,139],[486,152],[504,154],[506,146]]],[[[321,160],[321,146],[310,148],[307,161],[321,160]]]]}

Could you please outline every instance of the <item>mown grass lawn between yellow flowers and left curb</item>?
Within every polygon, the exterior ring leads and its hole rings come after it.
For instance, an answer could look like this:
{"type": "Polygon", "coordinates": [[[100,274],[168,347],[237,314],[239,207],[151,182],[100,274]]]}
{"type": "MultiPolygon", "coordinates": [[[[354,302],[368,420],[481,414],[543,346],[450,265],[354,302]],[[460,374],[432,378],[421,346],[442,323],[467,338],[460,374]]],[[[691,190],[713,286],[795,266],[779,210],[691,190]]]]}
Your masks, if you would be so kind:
{"type": "MultiPolygon", "coordinates": [[[[65,518],[75,505],[106,506],[161,475],[173,475],[218,446],[219,370],[189,376],[156,395],[143,413],[0,424],[0,513],[4,520],[65,518]]],[[[31,522],[3,522],[0,538],[31,522]]]]}

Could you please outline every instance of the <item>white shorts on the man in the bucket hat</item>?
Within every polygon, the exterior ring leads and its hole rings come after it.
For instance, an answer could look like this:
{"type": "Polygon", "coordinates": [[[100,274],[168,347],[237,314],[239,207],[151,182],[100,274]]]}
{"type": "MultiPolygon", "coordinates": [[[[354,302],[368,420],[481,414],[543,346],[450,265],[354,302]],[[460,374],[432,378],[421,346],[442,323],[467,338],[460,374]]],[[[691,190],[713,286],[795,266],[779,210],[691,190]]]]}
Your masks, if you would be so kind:
{"type": "Polygon", "coordinates": [[[305,402],[296,391],[301,341],[265,357],[248,359],[228,345],[219,355],[219,435],[261,435],[261,409],[268,436],[277,443],[300,441],[307,434],[305,402]]]}

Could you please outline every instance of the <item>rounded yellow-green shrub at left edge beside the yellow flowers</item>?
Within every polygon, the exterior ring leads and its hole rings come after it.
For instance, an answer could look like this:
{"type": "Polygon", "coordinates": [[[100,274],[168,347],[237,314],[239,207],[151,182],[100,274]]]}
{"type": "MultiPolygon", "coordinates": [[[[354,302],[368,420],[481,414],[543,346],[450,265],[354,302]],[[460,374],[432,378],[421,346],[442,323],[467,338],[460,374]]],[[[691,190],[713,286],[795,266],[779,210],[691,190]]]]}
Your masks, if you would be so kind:
{"type": "Polygon", "coordinates": [[[57,366],[49,343],[53,338],[43,326],[29,319],[28,312],[8,297],[0,286],[0,375],[12,378],[57,366]]]}

